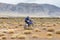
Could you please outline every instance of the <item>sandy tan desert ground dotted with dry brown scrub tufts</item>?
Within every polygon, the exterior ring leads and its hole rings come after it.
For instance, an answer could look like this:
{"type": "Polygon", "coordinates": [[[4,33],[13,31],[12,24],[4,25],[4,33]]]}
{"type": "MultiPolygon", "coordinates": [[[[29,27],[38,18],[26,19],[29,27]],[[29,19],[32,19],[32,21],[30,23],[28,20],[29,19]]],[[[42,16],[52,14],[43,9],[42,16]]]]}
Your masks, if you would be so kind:
{"type": "Polygon", "coordinates": [[[32,18],[24,29],[24,18],[0,18],[0,40],[60,40],[60,18],[32,18]]]}

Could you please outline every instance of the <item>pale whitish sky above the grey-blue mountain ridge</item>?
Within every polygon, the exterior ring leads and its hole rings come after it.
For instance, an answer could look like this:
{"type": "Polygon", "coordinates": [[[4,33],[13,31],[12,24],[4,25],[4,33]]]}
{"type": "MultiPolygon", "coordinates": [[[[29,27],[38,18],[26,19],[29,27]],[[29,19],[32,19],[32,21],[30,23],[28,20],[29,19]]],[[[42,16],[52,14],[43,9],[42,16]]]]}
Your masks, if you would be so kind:
{"type": "Polygon", "coordinates": [[[52,4],[60,7],[60,0],[0,0],[0,3],[8,4],[38,3],[38,4],[52,4]]]}

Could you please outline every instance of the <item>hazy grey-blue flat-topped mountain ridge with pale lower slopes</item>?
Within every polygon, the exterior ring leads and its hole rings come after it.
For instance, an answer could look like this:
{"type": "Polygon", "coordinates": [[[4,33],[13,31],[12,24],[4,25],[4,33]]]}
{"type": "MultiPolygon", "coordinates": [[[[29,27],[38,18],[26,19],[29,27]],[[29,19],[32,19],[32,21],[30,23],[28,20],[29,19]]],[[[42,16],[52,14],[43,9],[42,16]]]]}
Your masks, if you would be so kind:
{"type": "MultiPolygon", "coordinates": [[[[36,3],[18,3],[16,5],[0,3],[0,14],[22,14],[23,16],[50,16],[60,17],[60,8],[51,4],[36,4],[36,3]]],[[[6,15],[7,15],[6,14],[6,15]]],[[[10,15],[8,15],[10,16],[10,15]]],[[[13,15],[15,16],[15,15],[13,15]]]]}

